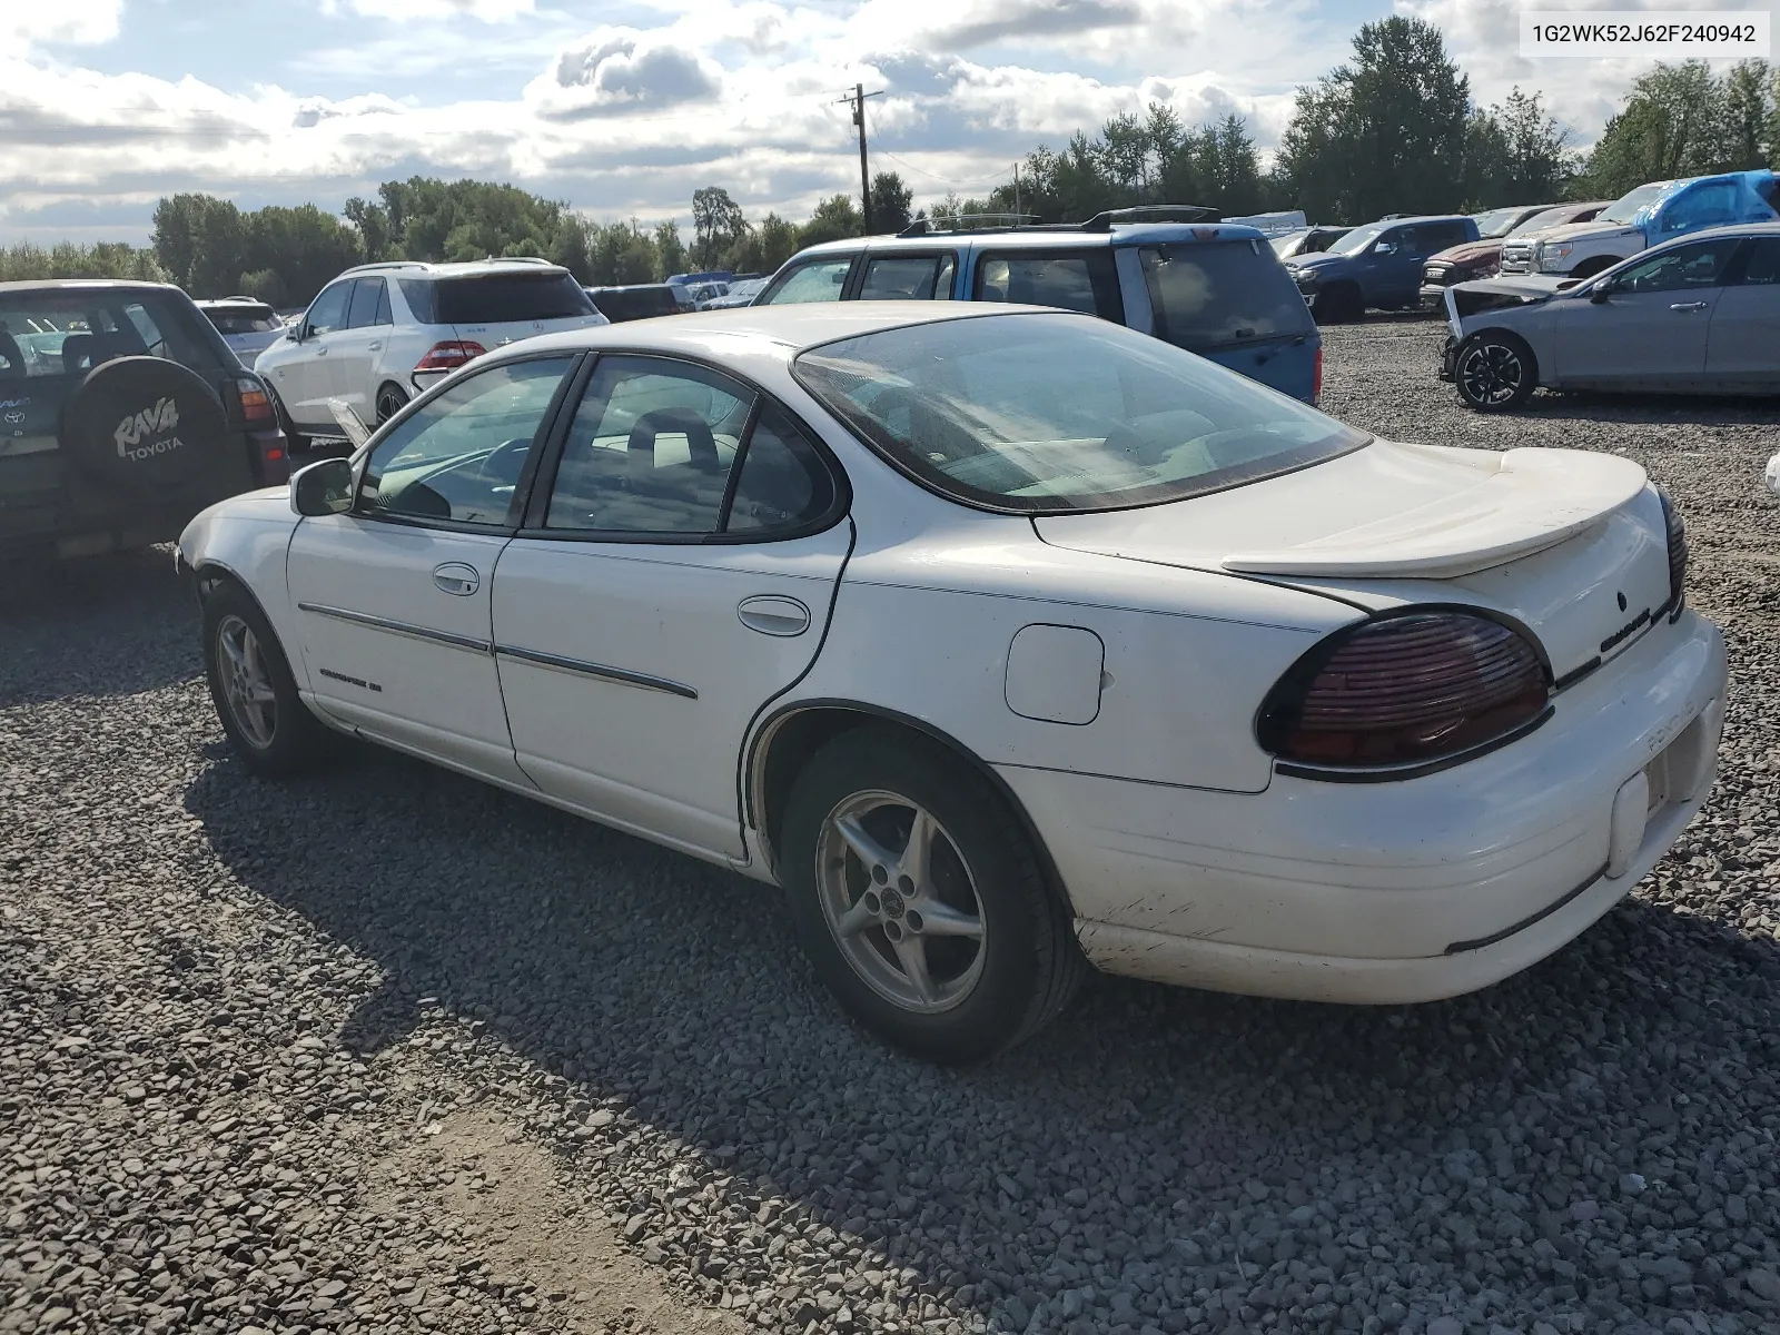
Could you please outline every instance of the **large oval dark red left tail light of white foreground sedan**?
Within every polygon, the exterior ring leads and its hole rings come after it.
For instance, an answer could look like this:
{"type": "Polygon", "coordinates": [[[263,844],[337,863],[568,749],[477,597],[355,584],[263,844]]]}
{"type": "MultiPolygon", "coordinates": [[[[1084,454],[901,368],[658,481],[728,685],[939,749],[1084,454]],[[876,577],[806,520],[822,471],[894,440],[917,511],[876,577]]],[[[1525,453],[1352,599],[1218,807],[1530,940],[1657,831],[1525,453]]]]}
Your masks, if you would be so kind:
{"type": "Polygon", "coordinates": [[[1299,659],[1262,701],[1255,735],[1289,765],[1419,767],[1531,730],[1549,687],[1538,650],[1513,627],[1458,611],[1387,616],[1299,659]]]}

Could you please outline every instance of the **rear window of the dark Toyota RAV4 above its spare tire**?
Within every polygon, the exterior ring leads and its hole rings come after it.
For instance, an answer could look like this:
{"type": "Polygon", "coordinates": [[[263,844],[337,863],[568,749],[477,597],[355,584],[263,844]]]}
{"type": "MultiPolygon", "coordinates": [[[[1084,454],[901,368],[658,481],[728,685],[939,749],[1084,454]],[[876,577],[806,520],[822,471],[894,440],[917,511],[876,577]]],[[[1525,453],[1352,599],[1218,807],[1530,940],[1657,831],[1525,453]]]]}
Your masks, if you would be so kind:
{"type": "Polygon", "coordinates": [[[157,356],[203,370],[221,367],[194,315],[196,308],[180,310],[180,301],[164,292],[7,292],[0,295],[0,383],[84,376],[101,361],[128,356],[157,356]]]}

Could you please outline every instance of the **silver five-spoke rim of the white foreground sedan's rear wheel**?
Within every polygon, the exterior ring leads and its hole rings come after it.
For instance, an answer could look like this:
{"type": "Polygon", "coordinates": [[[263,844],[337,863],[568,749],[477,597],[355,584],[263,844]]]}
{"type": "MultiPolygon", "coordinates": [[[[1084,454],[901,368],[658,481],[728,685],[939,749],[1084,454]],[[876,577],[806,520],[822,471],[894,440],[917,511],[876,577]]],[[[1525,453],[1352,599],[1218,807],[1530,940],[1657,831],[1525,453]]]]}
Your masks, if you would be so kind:
{"type": "Polygon", "coordinates": [[[858,792],[817,840],[815,883],[840,954],[917,1015],[963,1002],[983,975],[988,922],[958,844],[918,803],[858,792]]]}

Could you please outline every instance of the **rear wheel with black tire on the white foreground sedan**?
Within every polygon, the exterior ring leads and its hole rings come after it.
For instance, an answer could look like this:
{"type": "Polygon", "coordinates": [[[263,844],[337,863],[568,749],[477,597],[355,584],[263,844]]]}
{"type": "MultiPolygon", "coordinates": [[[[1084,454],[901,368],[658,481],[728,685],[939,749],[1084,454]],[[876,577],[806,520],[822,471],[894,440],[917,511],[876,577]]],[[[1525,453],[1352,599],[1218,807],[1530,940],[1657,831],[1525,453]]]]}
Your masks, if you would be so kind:
{"type": "Polygon", "coordinates": [[[894,728],[822,748],[785,808],[781,879],[797,936],[865,1029],[972,1063],[1047,1025],[1088,963],[1006,801],[894,728]]]}

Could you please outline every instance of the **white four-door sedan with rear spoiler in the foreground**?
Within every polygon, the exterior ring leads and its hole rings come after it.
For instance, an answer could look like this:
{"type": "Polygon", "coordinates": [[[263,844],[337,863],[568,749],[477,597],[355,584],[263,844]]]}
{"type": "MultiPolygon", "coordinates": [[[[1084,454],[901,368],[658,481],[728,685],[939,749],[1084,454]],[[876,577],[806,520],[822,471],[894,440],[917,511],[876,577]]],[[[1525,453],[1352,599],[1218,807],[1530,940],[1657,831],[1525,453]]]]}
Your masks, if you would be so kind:
{"type": "Polygon", "coordinates": [[[1723,721],[1636,465],[1376,440],[1031,308],[527,340],[180,562],[249,767],[356,733],[774,883],[947,1061],[1088,965],[1508,977],[1650,870],[1723,721]]]}

